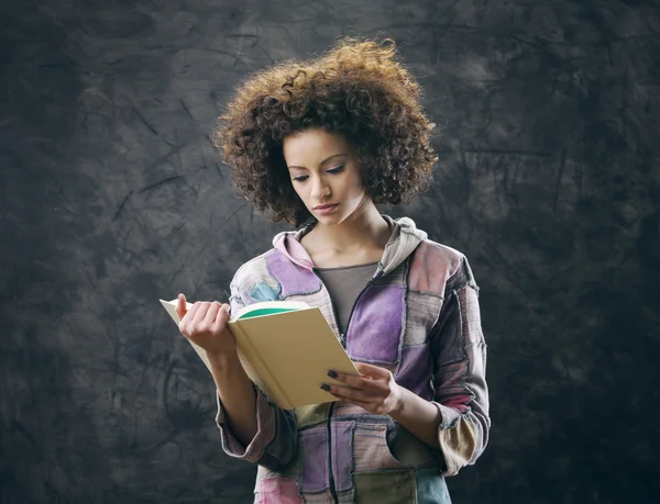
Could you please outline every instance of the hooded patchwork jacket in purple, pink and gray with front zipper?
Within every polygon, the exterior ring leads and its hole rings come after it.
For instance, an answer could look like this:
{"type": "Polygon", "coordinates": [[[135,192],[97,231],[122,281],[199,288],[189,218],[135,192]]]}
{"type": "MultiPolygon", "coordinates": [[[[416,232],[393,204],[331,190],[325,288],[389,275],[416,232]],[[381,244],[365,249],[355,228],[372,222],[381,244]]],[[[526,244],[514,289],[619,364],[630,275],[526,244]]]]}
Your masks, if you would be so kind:
{"type": "Polygon", "coordinates": [[[486,344],[477,287],[465,257],[431,242],[407,217],[393,229],[344,334],[327,288],[300,244],[310,227],[275,236],[274,248],[231,282],[232,311],[273,300],[319,306],[353,361],[392,371],[441,414],[440,449],[387,415],[343,402],[282,410],[257,388],[258,430],[249,446],[231,433],[218,401],[222,448],[258,464],[255,503],[450,503],[446,477],[474,463],[491,419],[486,344]]]}

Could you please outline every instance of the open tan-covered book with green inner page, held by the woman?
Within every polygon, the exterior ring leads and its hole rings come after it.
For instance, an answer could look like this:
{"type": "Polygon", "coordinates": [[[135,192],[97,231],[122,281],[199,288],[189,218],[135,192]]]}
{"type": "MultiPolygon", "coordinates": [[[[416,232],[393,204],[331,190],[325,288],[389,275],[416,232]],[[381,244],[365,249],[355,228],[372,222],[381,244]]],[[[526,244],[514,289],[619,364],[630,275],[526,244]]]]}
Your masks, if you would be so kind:
{"type": "MultiPolygon", "coordinates": [[[[161,303],[178,326],[177,300],[161,303]]],[[[360,374],[321,311],[307,303],[254,303],[233,314],[228,327],[250,379],[285,410],[337,401],[320,389],[321,383],[334,382],[328,377],[330,369],[360,374]]],[[[188,341],[210,370],[206,351],[188,341]]]]}

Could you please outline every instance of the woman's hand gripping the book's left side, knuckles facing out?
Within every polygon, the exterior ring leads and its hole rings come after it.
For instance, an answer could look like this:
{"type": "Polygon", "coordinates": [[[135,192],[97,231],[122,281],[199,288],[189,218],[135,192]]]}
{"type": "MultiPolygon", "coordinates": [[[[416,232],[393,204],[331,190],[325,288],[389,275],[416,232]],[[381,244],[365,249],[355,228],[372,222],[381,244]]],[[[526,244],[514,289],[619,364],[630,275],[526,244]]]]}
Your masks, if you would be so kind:
{"type": "Polygon", "coordinates": [[[190,341],[210,355],[234,355],[237,341],[227,327],[229,304],[219,301],[198,301],[190,310],[186,309],[186,296],[178,295],[176,313],[179,316],[179,331],[190,341]]]}

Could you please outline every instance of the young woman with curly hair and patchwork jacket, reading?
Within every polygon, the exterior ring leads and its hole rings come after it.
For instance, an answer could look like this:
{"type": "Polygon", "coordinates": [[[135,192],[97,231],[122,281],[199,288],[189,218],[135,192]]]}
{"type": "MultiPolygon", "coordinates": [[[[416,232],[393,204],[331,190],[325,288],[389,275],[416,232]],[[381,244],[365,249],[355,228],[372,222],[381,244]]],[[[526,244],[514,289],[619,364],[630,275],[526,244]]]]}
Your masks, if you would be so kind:
{"type": "Polygon", "coordinates": [[[477,287],[465,257],[377,203],[409,201],[436,156],[420,88],[389,43],[344,40],[254,75],[217,131],[241,192],[298,231],[245,262],[230,304],[197,302],[180,332],[218,389],[222,448],[258,464],[256,503],[450,503],[444,478],[484,450],[491,421],[477,287]],[[305,225],[304,225],[305,224],[305,225]],[[285,411],[248,378],[230,311],[319,306],[360,377],[339,401],[285,411]]]}

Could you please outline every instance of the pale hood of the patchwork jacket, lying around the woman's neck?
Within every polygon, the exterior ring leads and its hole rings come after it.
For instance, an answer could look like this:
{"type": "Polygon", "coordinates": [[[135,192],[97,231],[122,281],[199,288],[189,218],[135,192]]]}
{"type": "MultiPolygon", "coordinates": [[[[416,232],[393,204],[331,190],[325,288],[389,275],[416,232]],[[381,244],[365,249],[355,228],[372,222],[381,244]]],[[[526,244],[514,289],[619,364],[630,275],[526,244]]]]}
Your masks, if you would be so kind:
{"type": "MultiPolygon", "coordinates": [[[[388,215],[383,215],[383,219],[389,224],[392,235],[385,245],[385,251],[378,262],[376,276],[383,276],[394,270],[413,254],[421,242],[428,238],[428,235],[424,231],[418,229],[415,222],[409,217],[395,220],[388,215]]],[[[314,262],[302,244],[300,244],[300,239],[312,229],[314,225],[312,223],[299,231],[278,233],[273,238],[273,246],[292,262],[306,269],[312,269],[314,262]]]]}

